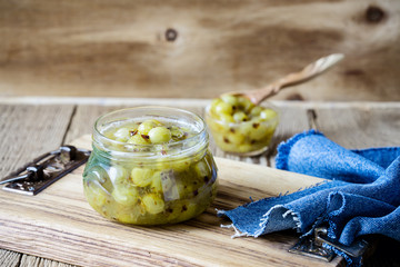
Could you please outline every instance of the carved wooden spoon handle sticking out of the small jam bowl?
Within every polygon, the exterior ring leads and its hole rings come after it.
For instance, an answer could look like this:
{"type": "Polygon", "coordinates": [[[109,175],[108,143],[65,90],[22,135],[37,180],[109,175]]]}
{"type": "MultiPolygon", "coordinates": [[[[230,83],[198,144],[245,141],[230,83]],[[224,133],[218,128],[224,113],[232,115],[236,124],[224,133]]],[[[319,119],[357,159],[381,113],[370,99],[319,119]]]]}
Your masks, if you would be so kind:
{"type": "Polygon", "coordinates": [[[232,96],[240,96],[250,99],[251,102],[259,105],[264,99],[272,97],[277,95],[281,89],[291,87],[294,85],[299,85],[301,82],[308,81],[326,70],[328,70],[330,67],[339,62],[343,59],[342,53],[332,53],[330,56],[323,57],[318,59],[317,61],[308,65],[306,68],[303,68],[299,72],[290,73],[271,85],[257,89],[257,90],[250,90],[246,92],[228,92],[223,95],[232,95],[232,96]]]}

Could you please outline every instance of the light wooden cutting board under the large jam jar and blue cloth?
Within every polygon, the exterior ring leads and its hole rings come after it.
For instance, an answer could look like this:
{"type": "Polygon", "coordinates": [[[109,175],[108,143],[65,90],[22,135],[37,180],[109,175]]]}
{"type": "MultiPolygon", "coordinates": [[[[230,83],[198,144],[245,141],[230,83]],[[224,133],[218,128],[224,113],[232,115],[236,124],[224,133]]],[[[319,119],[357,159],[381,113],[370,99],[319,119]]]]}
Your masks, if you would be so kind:
{"type": "MultiPolygon", "coordinates": [[[[90,136],[73,142],[90,148],[90,136]]],[[[253,200],[296,191],[321,179],[268,167],[216,158],[219,192],[196,219],[158,227],[126,226],[98,215],[86,201],[83,167],[37,196],[0,190],[0,247],[81,266],[337,266],[288,253],[297,234],[284,231],[259,238],[232,239],[227,218],[217,209],[232,209],[253,200]]]]}

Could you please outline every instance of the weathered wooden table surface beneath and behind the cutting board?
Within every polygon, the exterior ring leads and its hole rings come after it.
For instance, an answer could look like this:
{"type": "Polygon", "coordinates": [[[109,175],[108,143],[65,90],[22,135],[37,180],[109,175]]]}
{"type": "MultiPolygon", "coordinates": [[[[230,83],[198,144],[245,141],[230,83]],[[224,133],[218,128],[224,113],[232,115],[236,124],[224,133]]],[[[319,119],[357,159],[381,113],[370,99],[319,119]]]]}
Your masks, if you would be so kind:
{"type": "MultiPolygon", "coordinates": [[[[160,105],[184,108],[202,116],[208,103],[209,100],[196,99],[0,99],[0,177],[42,152],[90,134],[94,119],[110,110],[160,105]]],[[[276,101],[274,105],[280,110],[281,123],[269,152],[260,157],[234,157],[216,148],[211,140],[214,156],[273,167],[277,145],[311,128],[346,148],[400,146],[400,102],[276,101]]],[[[398,243],[383,238],[367,265],[398,265],[400,259],[396,251],[399,249],[398,243]]],[[[0,249],[0,265],[68,266],[6,249],[0,249]]]]}

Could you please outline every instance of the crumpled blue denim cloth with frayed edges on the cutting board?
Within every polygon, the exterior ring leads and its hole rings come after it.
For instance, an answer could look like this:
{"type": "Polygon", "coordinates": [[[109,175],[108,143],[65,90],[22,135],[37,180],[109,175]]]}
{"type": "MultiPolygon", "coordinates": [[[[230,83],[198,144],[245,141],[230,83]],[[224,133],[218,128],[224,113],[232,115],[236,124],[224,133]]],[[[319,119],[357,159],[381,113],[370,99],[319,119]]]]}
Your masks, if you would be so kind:
{"type": "Polygon", "coordinates": [[[348,150],[310,130],[278,147],[277,168],[329,181],[220,210],[232,220],[236,236],[292,228],[309,235],[328,224],[328,237],[343,245],[369,234],[400,241],[400,147],[348,150]]]}

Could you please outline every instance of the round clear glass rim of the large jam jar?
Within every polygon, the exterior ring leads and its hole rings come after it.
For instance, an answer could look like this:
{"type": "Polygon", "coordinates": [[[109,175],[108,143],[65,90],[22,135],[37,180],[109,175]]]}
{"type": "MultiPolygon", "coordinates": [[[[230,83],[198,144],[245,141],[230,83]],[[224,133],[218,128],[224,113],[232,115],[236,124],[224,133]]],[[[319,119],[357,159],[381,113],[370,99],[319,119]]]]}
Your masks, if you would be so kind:
{"type": "MultiPolygon", "coordinates": [[[[190,142],[192,140],[198,140],[199,138],[202,139],[202,136],[207,136],[207,126],[206,126],[206,121],[203,120],[203,118],[201,118],[199,115],[184,110],[184,109],[179,109],[179,108],[171,108],[171,107],[164,107],[164,106],[140,106],[140,107],[133,107],[133,108],[124,108],[124,109],[117,109],[113,110],[111,112],[107,112],[102,116],[100,116],[93,126],[93,140],[103,140],[107,141],[109,144],[113,144],[116,146],[123,146],[126,148],[150,148],[153,146],[167,146],[167,147],[171,147],[171,146],[179,146],[182,144],[187,144],[190,142]],[[179,141],[171,141],[171,142],[167,142],[167,144],[161,144],[161,145],[154,145],[154,144],[146,144],[146,145],[136,145],[136,144],[127,144],[123,141],[118,141],[114,139],[111,139],[109,137],[107,137],[106,135],[103,135],[101,132],[101,122],[103,121],[104,125],[109,125],[112,122],[118,122],[118,121],[123,121],[124,119],[134,119],[136,117],[132,115],[131,117],[127,117],[127,116],[122,116],[123,113],[132,113],[132,112],[142,112],[140,116],[141,117],[150,117],[152,119],[157,119],[157,117],[159,117],[160,119],[168,119],[168,118],[174,118],[179,120],[179,117],[177,117],[178,115],[181,116],[186,116],[187,118],[191,119],[191,122],[194,122],[197,125],[197,131],[193,132],[193,136],[188,137],[187,139],[183,140],[179,140],[179,141]],[[144,112],[146,111],[146,112],[144,112]],[[118,115],[121,115],[118,117],[118,115]],[[170,115],[170,116],[169,116],[170,115]],[[110,121],[104,121],[107,118],[112,118],[112,117],[117,117],[113,120],[110,121]]],[[[207,137],[206,137],[207,139],[207,137]]],[[[99,141],[100,141],[99,140],[99,141]]],[[[119,151],[119,152],[129,152],[132,154],[132,151],[119,151]]],[[[146,152],[144,152],[146,154],[146,152]]]]}

